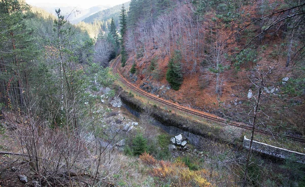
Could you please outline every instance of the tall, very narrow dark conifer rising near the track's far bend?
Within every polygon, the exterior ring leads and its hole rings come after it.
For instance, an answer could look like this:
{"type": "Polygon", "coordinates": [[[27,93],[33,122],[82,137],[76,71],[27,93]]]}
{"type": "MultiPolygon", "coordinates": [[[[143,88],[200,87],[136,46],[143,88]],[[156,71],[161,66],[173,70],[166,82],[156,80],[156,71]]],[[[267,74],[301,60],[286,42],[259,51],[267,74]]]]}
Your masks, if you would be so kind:
{"type": "Polygon", "coordinates": [[[125,37],[126,37],[126,31],[127,31],[127,21],[126,21],[126,9],[124,7],[124,4],[122,6],[122,9],[121,9],[121,13],[120,13],[120,16],[119,16],[119,24],[120,24],[120,36],[121,36],[121,39],[120,39],[120,42],[121,42],[121,66],[122,67],[125,67],[126,65],[126,61],[127,61],[127,52],[126,52],[126,49],[125,49],[125,37]]]}

